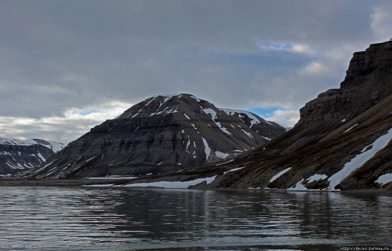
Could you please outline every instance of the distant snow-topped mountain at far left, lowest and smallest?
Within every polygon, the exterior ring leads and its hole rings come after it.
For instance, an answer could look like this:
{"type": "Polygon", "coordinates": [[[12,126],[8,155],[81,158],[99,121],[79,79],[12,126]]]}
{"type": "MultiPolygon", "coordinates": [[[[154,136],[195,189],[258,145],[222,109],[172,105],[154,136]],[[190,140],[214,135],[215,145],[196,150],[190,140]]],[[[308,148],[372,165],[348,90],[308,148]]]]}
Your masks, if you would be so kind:
{"type": "Polygon", "coordinates": [[[59,142],[0,137],[0,176],[25,172],[45,163],[66,145],[59,142]]]}

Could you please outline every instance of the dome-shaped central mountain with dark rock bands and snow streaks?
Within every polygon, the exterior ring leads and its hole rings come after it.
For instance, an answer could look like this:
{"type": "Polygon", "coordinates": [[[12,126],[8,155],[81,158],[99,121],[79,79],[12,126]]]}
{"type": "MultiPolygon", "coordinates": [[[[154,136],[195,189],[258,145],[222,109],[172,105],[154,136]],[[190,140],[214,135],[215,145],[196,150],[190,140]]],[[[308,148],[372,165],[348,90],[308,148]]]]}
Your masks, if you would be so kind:
{"type": "Polygon", "coordinates": [[[156,95],[95,126],[29,177],[144,175],[213,163],[286,132],[251,112],[190,94],[156,95]],[[50,172],[48,172],[50,170],[50,172]]]}

